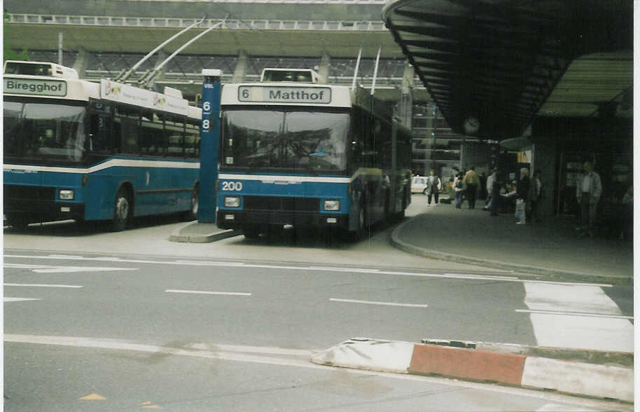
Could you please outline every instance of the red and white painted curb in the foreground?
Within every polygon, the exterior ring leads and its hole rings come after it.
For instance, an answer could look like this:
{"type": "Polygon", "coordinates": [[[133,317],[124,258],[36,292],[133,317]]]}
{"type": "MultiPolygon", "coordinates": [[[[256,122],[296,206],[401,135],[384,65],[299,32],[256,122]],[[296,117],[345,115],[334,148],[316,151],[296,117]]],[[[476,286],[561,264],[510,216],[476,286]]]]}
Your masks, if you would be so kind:
{"type": "Polygon", "coordinates": [[[620,401],[634,400],[633,368],[620,366],[368,338],[340,343],[317,353],[311,360],[315,364],[343,368],[441,375],[620,401]]]}

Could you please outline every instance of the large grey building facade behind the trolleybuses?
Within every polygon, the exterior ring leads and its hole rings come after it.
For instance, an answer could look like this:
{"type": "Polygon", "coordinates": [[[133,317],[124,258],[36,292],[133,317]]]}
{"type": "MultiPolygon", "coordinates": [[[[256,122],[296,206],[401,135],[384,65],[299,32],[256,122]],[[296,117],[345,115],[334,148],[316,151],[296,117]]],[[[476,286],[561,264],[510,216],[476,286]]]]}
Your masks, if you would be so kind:
{"type": "Polygon", "coordinates": [[[151,87],[200,99],[202,69],[222,69],[223,83],[257,81],[264,67],[315,68],[327,83],[374,87],[414,134],[417,174],[448,177],[476,139],[452,132],[381,19],[380,0],[157,1],[6,0],[5,45],[29,59],[61,62],[81,78],[114,78],[184,27],[128,79],[135,82],[205,29],[219,24],[162,68],[151,87]],[[62,36],[62,39],[60,39],[62,36]],[[60,41],[61,40],[61,41],[60,41]],[[380,61],[376,71],[376,57],[380,61]],[[61,61],[60,61],[61,60],[61,61]],[[463,143],[466,142],[466,143],[463,143]]]}

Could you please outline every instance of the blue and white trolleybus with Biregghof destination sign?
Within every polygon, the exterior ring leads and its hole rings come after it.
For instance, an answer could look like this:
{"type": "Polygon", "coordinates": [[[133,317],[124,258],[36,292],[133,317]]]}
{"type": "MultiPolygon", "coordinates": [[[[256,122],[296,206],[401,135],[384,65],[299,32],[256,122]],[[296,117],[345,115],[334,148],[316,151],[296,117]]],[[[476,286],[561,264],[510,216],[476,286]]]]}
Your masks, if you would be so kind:
{"type": "Polygon", "coordinates": [[[34,221],[184,212],[195,219],[202,111],[165,94],[46,62],[4,66],[4,214],[34,221]]]}

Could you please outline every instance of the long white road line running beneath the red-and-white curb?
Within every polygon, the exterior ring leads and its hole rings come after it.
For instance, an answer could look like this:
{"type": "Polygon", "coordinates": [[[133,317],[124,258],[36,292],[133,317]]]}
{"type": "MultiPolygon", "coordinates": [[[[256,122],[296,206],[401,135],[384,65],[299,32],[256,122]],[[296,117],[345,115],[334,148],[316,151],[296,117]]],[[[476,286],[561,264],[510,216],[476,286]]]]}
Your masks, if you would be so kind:
{"type": "MultiPolygon", "coordinates": [[[[309,362],[309,357],[266,357],[256,356],[247,353],[234,353],[226,352],[225,350],[182,350],[178,348],[167,348],[165,346],[157,345],[144,345],[140,343],[134,343],[131,341],[123,341],[119,339],[109,338],[82,338],[71,336],[36,336],[36,335],[19,335],[19,334],[5,334],[4,342],[12,343],[35,343],[39,345],[58,345],[69,346],[74,348],[100,348],[100,349],[113,349],[113,350],[132,350],[137,352],[146,352],[150,355],[156,355],[158,353],[164,353],[167,355],[186,356],[186,357],[199,357],[202,359],[221,359],[230,362],[250,362],[257,364],[270,364],[276,366],[293,366],[307,369],[319,369],[335,372],[335,368],[332,366],[325,366],[314,364],[309,362]]],[[[218,345],[214,345],[214,348],[218,345]]],[[[246,348],[246,347],[239,347],[246,348]]],[[[5,350],[6,345],[5,345],[5,350]]],[[[396,380],[410,380],[422,383],[431,383],[433,385],[445,385],[448,387],[464,387],[471,390],[493,392],[500,394],[510,394],[513,396],[522,396],[536,399],[545,399],[546,401],[553,401],[555,403],[566,403],[569,405],[581,405],[593,408],[609,409],[611,408],[610,401],[603,401],[601,399],[582,399],[571,397],[565,394],[559,394],[554,392],[538,392],[531,391],[520,387],[506,387],[499,385],[487,385],[486,383],[467,382],[463,380],[448,379],[443,377],[431,377],[431,376],[419,376],[409,375],[404,373],[388,373],[378,371],[366,371],[361,369],[342,369],[345,373],[359,375],[359,376],[380,376],[382,378],[396,379],[396,380]]],[[[615,408],[620,410],[633,412],[632,405],[615,403],[615,408]]]]}

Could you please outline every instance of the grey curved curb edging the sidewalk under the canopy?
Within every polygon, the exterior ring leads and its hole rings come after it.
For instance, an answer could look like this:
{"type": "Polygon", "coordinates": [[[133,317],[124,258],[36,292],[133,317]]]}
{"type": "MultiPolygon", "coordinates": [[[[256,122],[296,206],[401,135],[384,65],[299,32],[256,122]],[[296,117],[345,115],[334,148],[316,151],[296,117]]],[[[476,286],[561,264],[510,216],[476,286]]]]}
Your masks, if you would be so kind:
{"type": "Polygon", "coordinates": [[[529,266],[529,265],[520,265],[517,263],[507,263],[503,261],[494,261],[490,259],[479,259],[471,256],[463,256],[459,254],[451,254],[447,252],[440,252],[433,249],[424,249],[423,247],[418,247],[415,245],[411,245],[408,242],[404,242],[400,239],[399,233],[402,231],[405,225],[410,224],[411,221],[417,219],[419,215],[412,217],[408,221],[404,221],[402,224],[398,225],[391,232],[391,245],[396,247],[397,249],[402,250],[403,252],[408,252],[410,254],[415,254],[418,256],[424,256],[429,259],[438,259],[442,261],[450,261],[454,263],[464,263],[467,265],[475,265],[475,266],[484,266],[487,268],[494,268],[499,270],[510,270],[520,273],[529,273],[532,275],[546,275],[552,277],[562,277],[568,280],[585,280],[585,277],[590,279],[590,282],[606,282],[613,284],[632,284],[632,279],[627,279],[627,277],[611,277],[611,276],[601,276],[601,275],[591,275],[590,273],[580,273],[580,272],[569,272],[566,270],[559,270],[554,268],[543,268],[540,266],[529,266]]]}

